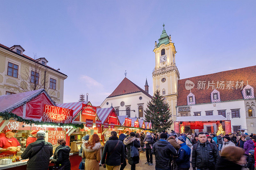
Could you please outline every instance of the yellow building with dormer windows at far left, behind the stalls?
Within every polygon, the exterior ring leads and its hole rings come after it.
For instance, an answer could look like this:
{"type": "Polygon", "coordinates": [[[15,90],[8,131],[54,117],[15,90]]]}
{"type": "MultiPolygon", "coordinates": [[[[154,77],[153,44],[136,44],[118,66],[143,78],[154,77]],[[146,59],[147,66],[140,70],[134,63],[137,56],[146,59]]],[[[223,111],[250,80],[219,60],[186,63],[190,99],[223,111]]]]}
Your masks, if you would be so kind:
{"type": "Polygon", "coordinates": [[[63,103],[64,80],[68,77],[47,66],[45,58],[24,55],[20,45],[0,44],[0,95],[44,88],[57,104],[63,103]]]}

